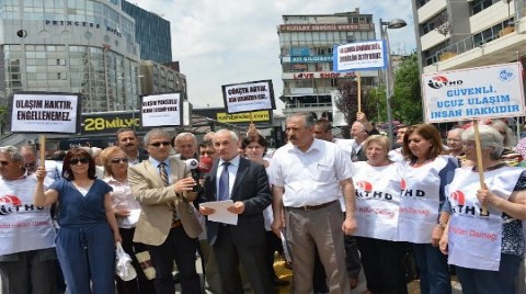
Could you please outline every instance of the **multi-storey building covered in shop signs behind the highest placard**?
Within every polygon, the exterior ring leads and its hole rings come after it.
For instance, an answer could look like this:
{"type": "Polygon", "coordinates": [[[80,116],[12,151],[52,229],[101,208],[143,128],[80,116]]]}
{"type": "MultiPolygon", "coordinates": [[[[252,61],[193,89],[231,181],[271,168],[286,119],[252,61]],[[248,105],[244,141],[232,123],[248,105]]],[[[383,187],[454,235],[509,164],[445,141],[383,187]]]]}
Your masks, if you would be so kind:
{"type": "MultiPolygon", "coordinates": [[[[375,39],[373,14],[359,9],[334,14],[283,15],[279,35],[284,114],[312,112],[318,117],[332,112],[331,92],[354,74],[333,71],[334,45],[375,39]]],[[[362,84],[375,86],[377,71],[363,71],[362,84]]]]}

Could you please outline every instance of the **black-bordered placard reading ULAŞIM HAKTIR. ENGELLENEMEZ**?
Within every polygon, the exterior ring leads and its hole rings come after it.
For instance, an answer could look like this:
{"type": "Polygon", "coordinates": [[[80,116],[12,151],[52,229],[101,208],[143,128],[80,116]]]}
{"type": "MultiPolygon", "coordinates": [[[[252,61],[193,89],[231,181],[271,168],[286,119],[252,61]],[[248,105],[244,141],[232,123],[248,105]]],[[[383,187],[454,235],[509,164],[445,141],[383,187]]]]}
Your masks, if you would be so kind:
{"type": "Polygon", "coordinates": [[[10,103],[11,132],[67,133],[79,131],[79,94],[19,92],[10,103]]]}

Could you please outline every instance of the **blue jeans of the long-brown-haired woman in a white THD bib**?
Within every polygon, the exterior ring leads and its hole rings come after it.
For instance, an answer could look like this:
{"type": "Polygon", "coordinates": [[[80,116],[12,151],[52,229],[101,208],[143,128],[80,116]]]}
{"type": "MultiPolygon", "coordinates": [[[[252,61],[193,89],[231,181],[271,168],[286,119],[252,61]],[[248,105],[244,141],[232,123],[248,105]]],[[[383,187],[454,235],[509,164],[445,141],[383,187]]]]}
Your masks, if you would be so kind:
{"type": "Polygon", "coordinates": [[[451,280],[447,257],[431,244],[413,244],[413,248],[420,270],[420,293],[450,294],[451,280]]]}

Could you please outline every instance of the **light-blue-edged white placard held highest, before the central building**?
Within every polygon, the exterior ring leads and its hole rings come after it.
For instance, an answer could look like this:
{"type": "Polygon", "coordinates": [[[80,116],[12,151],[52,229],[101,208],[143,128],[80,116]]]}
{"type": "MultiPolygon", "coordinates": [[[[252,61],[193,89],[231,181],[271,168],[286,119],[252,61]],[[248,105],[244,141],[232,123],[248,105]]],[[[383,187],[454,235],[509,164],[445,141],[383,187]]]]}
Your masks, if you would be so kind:
{"type": "Polygon", "coordinates": [[[334,71],[384,69],[387,65],[384,39],[336,45],[333,49],[334,71]]]}

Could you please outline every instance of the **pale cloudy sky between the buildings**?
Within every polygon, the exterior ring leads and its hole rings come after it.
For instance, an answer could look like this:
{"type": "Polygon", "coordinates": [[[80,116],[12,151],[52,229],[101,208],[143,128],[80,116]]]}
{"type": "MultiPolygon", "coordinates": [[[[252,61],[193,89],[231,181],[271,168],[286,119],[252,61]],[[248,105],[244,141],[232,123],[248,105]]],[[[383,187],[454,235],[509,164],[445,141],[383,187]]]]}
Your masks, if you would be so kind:
{"type": "Polygon", "coordinates": [[[129,0],[171,23],[172,59],[186,75],[194,109],[222,108],[221,86],[272,79],[276,109],[285,106],[276,27],[286,14],[333,14],[354,11],[378,19],[402,19],[408,26],[389,30],[392,53],[415,49],[411,1],[404,0],[129,0]]]}

